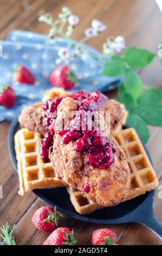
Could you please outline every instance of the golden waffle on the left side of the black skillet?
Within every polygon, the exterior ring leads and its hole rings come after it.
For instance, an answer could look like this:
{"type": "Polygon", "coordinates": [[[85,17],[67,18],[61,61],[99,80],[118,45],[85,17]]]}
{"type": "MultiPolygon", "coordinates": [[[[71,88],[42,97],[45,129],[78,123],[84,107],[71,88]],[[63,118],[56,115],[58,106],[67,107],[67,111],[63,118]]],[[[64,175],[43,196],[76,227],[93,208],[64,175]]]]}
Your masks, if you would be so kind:
{"type": "Polygon", "coordinates": [[[14,139],[20,181],[19,194],[23,196],[35,188],[65,186],[55,173],[52,163],[43,163],[41,160],[40,133],[21,129],[16,132],[14,139]]]}

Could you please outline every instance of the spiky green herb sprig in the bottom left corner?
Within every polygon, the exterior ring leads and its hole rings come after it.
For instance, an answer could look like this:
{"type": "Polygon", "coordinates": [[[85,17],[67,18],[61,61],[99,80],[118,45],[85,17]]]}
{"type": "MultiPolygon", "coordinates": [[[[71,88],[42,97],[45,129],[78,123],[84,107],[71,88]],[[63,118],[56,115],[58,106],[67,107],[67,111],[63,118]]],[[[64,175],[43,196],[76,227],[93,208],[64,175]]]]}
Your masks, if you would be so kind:
{"type": "MultiPolygon", "coordinates": [[[[13,236],[13,232],[15,229],[15,225],[14,227],[11,229],[11,231],[9,232],[9,224],[8,222],[6,223],[6,226],[0,228],[2,231],[2,234],[0,234],[0,237],[2,237],[2,239],[8,244],[8,245],[16,245],[15,242],[15,237],[13,236]]],[[[2,242],[0,242],[0,245],[2,245],[2,242]]]]}

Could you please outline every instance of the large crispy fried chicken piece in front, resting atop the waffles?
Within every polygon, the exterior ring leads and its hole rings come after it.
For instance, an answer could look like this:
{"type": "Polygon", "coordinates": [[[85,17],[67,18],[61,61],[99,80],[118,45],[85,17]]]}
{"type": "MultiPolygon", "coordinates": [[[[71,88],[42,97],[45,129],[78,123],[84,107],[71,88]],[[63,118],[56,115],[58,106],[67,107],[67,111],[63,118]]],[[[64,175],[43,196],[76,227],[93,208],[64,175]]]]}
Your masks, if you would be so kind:
{"type": "Polygon", "coordinates": [[[126,198],[130,187],[130,170],[126,156],[111,135],[107,138],[113,144],[115,159],[107,169],[92,167],[86,161],[87,155],[74,150],[74,141],[61,144],[61,136],[57,133],[57,128],[63,118],[63,112],[75,111],[76,108],[77,101],[68,97],[62,100],[58,106],[54,144],[49,154],[51,162],[59,178],[73,190],[82,192],[86,198],[100,205],[116,205],[126,198]],[[83,190],[85,184],[90,186],[88,193],[83,190]]]}

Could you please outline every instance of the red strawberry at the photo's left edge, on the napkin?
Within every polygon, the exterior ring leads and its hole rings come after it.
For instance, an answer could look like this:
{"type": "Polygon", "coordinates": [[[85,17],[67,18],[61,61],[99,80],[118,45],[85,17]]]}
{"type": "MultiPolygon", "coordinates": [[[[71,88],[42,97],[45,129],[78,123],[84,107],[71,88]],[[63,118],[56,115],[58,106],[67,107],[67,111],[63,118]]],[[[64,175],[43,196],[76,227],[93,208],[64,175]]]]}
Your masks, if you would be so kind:
{"type": "Polygon", "coordinates": [[[0,89],[0,105],[7,108],[11,108],[15,105],[16,95],[13,88],[9,87],[8,84],[4,84],[0,89]]]}

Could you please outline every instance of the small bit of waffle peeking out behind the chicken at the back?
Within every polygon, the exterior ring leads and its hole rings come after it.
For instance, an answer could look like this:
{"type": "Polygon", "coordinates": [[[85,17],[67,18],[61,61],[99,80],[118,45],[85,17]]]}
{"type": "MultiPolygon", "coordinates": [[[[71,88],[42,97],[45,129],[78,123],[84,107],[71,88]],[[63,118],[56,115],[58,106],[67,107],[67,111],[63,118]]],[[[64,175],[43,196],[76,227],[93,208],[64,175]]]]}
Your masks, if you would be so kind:
{"type": "Polygon", "coordinates": [[[67,96],[68,94],[69,92],[63,88],[52,88],[50,90],[46,90],[45,96],[43,96],[43,101],[52,100],[55,97],[67,96]]]}

